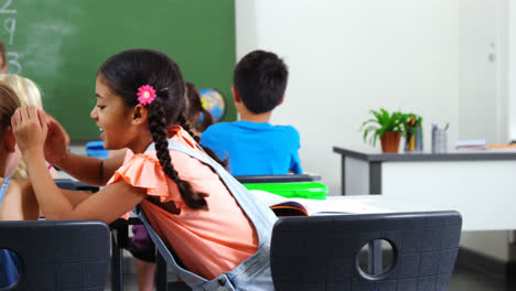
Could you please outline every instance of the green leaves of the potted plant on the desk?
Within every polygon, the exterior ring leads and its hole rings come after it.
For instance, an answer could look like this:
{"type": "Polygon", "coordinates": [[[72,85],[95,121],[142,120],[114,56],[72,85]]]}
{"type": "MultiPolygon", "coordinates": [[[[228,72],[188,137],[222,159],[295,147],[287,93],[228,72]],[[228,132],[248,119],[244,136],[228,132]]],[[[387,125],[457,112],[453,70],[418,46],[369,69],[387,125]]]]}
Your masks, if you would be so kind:
{"type": "Polygon", "coordinates": [[[364,141],[369,142],[373,147],[376,146],[376,140],[384,134],[384,132],[394,131],[401,133],[402,137],[407,132],[407,120],[410,115],[394,111],[391,115],[383,108],[377,110],[370,110],[370,114],[375,117],[368,119],[362,123],[362,130],[364,130],[364,141]]]}

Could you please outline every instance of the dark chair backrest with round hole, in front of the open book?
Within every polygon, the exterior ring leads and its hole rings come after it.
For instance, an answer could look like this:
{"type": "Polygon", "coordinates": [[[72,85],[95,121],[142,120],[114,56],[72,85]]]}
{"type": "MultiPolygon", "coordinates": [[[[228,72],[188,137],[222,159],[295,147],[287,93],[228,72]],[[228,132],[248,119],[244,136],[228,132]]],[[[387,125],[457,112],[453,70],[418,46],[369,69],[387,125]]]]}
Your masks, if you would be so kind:
{"type": "Polygon", "coordinates": [[[461,227],[456,212],[280,218],[271,240],[275,288],[443,291],[455,265],[461,227]],[[391,245],[393,265],[369,276],[361,268],[361,250],[377,239],[391,245]]]}

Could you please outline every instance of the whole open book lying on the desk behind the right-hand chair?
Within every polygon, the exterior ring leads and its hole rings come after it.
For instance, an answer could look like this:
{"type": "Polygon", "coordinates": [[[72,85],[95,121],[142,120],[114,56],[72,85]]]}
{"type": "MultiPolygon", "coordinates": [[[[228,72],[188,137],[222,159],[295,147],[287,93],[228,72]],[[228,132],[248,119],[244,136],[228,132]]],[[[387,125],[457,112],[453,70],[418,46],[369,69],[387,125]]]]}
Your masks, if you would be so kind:
{"type": "Polygon", "coordinates": [[[387,211],[342,197],[327,200],[286,198],[266,191],[251,190],[256,200],[269,206],[277,216],[385,213],[387,211]]]}

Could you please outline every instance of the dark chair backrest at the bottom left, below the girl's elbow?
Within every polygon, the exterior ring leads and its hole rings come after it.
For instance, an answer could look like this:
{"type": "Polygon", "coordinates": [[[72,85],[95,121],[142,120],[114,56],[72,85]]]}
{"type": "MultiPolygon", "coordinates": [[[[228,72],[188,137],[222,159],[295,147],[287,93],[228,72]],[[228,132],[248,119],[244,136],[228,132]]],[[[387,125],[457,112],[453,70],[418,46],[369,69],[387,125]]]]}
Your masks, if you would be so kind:
{"type": "Polygon", "coordinates": [[[103,222],[0,222],[0,248],[22,263],[18,283],[8,290],[106,288],[110,233],[103,222]]]}

